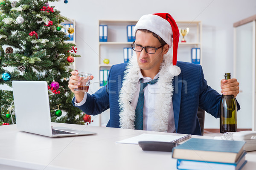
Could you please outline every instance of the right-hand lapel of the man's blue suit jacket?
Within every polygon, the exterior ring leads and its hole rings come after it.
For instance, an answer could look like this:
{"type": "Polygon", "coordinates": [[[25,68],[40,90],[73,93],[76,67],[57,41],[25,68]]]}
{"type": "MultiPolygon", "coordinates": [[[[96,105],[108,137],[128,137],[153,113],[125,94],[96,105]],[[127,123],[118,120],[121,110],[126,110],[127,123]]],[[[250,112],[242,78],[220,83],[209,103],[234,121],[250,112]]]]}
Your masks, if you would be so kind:
{"type": "Polygon", "coordinates": [[[172,105],[174,112],[175,128],[176,132],[179,125],[179,115],[180,115],[180,99],[181,99],[181,87],[182,87],[182,76],[181,74],[175,76],[173,81],[173,96],[172,96],[172,105]]]}

